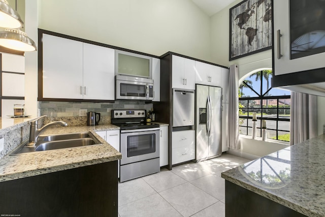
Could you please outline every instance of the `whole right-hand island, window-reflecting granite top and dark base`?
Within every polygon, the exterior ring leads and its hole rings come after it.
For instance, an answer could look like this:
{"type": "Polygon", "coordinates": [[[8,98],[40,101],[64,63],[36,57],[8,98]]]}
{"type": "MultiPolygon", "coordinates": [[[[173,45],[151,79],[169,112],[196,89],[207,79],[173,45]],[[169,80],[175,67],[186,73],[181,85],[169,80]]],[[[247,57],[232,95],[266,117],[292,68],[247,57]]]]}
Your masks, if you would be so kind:
{"type": "Polygon", "coordinates": [[[325,216],[325,136],[221,173],[226,216],[325,216]]]}

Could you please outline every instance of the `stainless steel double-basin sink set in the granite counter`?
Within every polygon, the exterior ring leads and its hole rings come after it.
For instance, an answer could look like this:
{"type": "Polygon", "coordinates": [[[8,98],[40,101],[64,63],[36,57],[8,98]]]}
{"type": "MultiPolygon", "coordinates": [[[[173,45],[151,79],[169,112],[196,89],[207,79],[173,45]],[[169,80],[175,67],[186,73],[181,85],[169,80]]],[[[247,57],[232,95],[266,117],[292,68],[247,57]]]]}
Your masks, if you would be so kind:
{"type": "Polygon", "coordinates": [[[42,135],[38,138],[36,143],[30,143],[28,141],[23,142],[10,155],[14,156],[17,154],[33,152],[35,153],[38,151],[48,151],[101,144],[102,143],[91,132],[42,135]]]}

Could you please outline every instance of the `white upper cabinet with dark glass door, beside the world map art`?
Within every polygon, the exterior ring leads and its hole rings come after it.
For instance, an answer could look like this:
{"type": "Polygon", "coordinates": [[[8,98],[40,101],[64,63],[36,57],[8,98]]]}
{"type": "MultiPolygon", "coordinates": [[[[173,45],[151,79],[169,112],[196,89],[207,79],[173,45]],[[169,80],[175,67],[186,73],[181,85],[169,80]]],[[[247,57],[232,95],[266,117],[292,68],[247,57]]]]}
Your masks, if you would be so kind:
{"type": "Polygon", "coordinates": [[[323,1],[273,1],[273,87],[325,81],[324,7],[323,1]]]}

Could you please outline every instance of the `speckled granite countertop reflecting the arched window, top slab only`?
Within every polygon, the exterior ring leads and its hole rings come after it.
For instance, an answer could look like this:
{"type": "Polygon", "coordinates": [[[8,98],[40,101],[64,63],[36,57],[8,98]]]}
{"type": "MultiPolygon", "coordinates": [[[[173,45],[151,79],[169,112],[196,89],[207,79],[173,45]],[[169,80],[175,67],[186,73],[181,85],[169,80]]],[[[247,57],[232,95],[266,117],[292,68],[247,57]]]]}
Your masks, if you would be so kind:
{"type": "Polygon", "coordinates": [[[321,135],[225,171],[221,177],[307,216],[325,216],[324,143],[321,135]]]}

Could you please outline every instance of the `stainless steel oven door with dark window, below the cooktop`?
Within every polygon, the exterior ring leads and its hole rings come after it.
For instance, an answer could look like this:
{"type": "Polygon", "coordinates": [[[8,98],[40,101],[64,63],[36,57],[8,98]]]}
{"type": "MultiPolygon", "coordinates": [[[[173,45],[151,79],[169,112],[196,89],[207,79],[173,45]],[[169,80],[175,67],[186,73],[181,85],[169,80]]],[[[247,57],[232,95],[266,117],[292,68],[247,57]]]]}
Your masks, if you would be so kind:
{"type": "Polygon", "coordinates": [[[121,130],[121,165],[159,158],[159,128],[121,130]]]}

